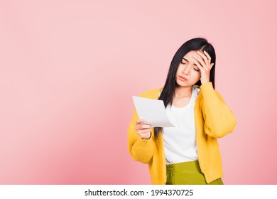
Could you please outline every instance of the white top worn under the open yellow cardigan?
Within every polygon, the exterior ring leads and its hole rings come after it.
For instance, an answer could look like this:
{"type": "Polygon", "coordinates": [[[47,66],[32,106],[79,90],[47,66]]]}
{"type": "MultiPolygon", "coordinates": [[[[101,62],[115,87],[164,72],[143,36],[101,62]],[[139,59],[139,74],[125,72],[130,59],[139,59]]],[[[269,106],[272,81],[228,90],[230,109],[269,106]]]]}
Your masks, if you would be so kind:
{"type": "Polygon", "coordinates": [[[195,161],[197,148],[195,140],[195,100],[200,89],[192,87],[190,102],[185,107],[166,107],[168,119],[175,127],[163,128],[163,146],[166,164],[195,161]]]}

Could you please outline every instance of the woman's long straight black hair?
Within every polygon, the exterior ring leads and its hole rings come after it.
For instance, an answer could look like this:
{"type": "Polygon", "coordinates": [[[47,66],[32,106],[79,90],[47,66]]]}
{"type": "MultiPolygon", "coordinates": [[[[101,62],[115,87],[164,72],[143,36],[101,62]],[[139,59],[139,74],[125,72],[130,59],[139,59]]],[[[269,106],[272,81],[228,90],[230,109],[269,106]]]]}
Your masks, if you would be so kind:
{"type": "MultiPolygon", "coordinates": [[[[215,72],[215,51],[212,44],[208,43],[205,38],[192,38],[189,41],[186,41],[181,45],[181,47],[175,53],[171,63],[170,68],[168,70],[168,76],[166,77],[165,85],[163,87],[163,91],[158,99],[163,100],[165,107],[168,104],[173,103],[173,98],[175,95],[175,87],[176,87],[176,72],[180,65],[183,57],[190,52],[191,50],[205,50],[211,57],[211,63],[214,63],[212,69],[210,70],[210,82],[212,82],[212,86],[214,87],[214,72],[215,72]]],[[[195,83],[195,85],[201,86],[201,81],[195,83]]],[[[154,135],[155,139],[158,139],[158,134],[161,132],[161,127],[154,127],[154,135]]]]}

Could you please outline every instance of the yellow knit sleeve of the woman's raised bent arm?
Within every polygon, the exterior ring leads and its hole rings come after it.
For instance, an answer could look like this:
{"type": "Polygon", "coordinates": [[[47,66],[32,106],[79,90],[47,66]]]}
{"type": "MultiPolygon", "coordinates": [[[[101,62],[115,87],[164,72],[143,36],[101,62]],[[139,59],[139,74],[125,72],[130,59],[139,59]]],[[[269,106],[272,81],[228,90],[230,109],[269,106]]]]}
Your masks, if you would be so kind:
{"type": "Polygon", "coordinates": [[[201,85],[203,95],[202,112],[205,121],[205,133],[220,138],[234,131],[237,120],[219,92],[214,91],[212,82],[201,85]]]}

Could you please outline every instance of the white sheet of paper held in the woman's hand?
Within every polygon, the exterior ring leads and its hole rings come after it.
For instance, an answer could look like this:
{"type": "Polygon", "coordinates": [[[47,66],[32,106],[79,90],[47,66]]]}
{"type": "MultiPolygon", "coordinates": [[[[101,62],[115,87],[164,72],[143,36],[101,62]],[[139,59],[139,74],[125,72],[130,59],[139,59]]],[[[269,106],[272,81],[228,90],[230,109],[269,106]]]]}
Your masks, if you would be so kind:
{"type": "Polygon", "coordinates": [[[133,96],[139,118],[146,119],[152,127],[175,127],[170,123],[163,100],[133,96]]]}

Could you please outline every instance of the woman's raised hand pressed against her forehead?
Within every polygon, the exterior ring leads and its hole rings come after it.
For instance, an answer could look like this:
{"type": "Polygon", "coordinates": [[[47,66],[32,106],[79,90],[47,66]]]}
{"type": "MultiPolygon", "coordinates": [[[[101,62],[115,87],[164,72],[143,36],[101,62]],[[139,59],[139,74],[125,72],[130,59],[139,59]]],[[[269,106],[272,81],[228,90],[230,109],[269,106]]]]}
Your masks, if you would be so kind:
{"type": "Polygon", "coordinates": [[[198,55],[193,55],[195,58],[195,64],[200,69],[201,72],[201,84],[205,84],[210,82],[210,70],[214,63],[211,63],[210,55],[204,50],[204,53],[201,53],[199,50],[197,51],[198,55]]]}

